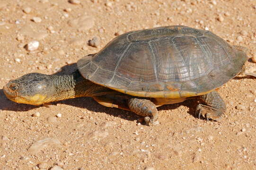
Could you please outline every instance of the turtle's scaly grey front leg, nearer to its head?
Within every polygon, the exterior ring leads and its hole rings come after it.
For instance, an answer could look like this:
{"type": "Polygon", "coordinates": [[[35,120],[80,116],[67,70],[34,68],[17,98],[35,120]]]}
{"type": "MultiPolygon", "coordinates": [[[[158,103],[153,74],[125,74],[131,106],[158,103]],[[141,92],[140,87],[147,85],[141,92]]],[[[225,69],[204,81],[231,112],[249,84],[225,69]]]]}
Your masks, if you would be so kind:
{"type": "Polygon", "coordinates": [[[132,98],[128,100],[128,106],[131,111],[143,116],[147,125],[157,124],[158,110],[156,105],[150,100],[132,98]]]}

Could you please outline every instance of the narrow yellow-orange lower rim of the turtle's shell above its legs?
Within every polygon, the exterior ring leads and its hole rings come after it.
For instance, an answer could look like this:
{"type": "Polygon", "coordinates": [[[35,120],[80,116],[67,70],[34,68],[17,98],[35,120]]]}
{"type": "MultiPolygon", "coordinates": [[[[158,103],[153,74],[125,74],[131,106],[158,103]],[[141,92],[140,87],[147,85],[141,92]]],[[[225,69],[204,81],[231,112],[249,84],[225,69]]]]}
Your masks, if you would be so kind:
{"type": "Polygon", "coordinates": [[[116,90],[121,93],[129,94],[132,96],[138,96],[138,97],[150,97],[150,98],[170,98],[170,99],[178,99],[178,98],[184,98],[184,97],[194,97],[199,95],[204,95],[207,93],[211,93],[213,90],[207,91],[207,92],[186,92],[186,91],[159,91],[159,92],[134,92],[134,91],[126,91],[124,89],[118,89],[114,87],[108,87],[110,89],[116,90]],[[181,94],[181,95],[180,95],[181,94]]]}

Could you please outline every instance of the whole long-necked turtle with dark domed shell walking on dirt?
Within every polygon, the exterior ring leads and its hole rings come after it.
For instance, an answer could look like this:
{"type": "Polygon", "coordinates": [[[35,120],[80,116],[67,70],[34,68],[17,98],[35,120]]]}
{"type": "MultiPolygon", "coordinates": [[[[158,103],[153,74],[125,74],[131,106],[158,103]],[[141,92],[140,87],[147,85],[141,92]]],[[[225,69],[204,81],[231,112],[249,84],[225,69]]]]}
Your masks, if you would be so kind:
{"type": "Polygon", "coordinates": [[[75,97],[130,110],[147,125],[157,107],[197,98],[200,119],[220,120],[226,105],[216,91],[245,70],[247,48],[232,46],[211,31],[162,26],[115,37],[62,76],[30,73],[3,87],[11,101],[41,105],[75,97]]]}

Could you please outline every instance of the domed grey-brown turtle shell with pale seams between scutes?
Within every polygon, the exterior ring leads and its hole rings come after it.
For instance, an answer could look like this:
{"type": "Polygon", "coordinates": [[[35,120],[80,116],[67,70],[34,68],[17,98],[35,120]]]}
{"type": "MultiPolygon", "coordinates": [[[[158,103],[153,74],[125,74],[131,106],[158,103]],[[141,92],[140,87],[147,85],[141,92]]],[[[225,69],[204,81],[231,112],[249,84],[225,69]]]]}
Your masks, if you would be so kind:
{"type": "Polygon", "coordinates": [[[246,52],[210,31],[163,26],[119,35],[77,65],[88,80],[122,93],[183,98],[225,84],[246,60],[246,52]]]}

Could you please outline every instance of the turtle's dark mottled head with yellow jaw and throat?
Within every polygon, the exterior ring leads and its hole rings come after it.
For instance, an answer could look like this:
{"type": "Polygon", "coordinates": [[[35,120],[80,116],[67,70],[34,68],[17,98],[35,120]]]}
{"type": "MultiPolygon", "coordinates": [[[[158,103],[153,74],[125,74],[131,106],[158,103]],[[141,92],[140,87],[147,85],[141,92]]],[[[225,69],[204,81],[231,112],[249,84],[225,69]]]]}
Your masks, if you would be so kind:
{"type": "Polygon", "coordinates": [[[40,105],[47,102],[51,93],[51,79],[50,75],[30,73],[9,81],[3,91],[13,102],[40,105]]]}

